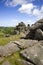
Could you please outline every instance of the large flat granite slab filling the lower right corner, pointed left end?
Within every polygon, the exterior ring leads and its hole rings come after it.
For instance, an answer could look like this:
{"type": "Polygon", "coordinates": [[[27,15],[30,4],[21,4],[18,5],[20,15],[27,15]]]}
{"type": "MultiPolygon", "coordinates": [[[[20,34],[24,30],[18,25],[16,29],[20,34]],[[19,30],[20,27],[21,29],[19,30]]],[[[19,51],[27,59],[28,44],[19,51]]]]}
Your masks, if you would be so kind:
{"type": "Polygon", "coordinates": [[[43,48],[40,44],[36,44],[20,52],[28,62],[34,65],[43,65],[43,48]]]}

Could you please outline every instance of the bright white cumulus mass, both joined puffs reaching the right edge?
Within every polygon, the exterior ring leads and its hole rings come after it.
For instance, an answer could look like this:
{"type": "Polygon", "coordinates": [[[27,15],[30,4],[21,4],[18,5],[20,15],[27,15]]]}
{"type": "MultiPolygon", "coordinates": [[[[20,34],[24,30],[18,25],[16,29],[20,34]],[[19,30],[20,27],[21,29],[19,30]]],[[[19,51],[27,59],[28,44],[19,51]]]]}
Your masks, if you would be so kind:
{"type": "Polygon", "coordinates": [[[18,11],[20,13],[26,13],[28,15],[35,16],[37,19],[43,18],[43,6],[39,9],[38,6],[33,3],[23,4],[18,11]]]}

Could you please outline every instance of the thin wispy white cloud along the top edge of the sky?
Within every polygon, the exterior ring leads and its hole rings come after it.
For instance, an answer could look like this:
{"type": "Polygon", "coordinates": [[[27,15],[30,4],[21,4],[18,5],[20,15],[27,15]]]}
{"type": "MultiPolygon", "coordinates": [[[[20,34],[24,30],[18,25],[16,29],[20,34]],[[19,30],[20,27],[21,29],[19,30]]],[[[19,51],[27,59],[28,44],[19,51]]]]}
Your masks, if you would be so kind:
{"type": "Polygon", "coordinates": [[[5,4],[7,6],[17,6],[18,4],[19,5],[27,4],[35,0],[3,0],[3,1],[5,1],[5,4]]]}

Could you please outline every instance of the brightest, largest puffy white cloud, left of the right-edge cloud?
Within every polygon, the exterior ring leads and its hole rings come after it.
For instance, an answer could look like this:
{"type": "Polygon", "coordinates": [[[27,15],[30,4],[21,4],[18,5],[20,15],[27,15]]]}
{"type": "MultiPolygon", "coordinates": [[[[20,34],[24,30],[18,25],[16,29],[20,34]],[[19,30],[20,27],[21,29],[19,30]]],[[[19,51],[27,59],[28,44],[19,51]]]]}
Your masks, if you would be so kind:
{"type": "Polygon", "coordinates": [[[29,4],[23,4],[18,11],[21,13],[27,13],[27,14],[32,14],[32,9],[36,8],[32,3],[29,4]]]}

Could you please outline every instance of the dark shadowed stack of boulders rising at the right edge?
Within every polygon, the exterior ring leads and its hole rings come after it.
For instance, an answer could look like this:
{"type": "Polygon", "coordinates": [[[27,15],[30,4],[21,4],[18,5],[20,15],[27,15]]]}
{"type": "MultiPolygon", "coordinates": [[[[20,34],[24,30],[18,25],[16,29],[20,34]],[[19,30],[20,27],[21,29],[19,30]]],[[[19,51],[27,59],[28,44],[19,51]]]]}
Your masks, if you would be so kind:
{"type": "Polygon", "coordinates": [[[26,35],[26,39],[43,40],[43,19],[31,25],[30,32],[26,35]]]}

